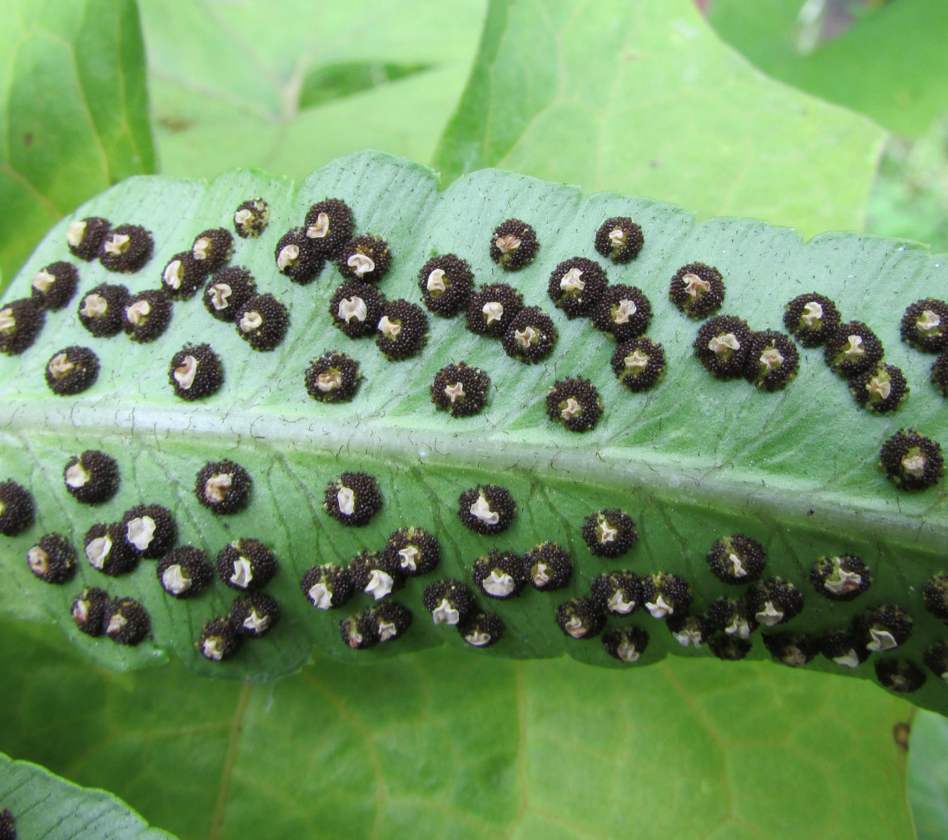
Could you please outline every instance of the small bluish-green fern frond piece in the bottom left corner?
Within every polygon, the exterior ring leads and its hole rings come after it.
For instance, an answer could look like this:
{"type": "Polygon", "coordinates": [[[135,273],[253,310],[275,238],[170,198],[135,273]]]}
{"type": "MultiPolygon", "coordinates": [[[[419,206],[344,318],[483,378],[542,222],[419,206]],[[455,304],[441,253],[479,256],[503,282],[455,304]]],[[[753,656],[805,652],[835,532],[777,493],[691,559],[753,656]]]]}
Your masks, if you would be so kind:
{"type": "Polygon", "coordinates": [[[38,764],[13,761],[0,753],[0,807],[16,820],[17,837],[70,837],[76,840],[173,840],[151,829],[124,802],[54,776],[38,764]]]}

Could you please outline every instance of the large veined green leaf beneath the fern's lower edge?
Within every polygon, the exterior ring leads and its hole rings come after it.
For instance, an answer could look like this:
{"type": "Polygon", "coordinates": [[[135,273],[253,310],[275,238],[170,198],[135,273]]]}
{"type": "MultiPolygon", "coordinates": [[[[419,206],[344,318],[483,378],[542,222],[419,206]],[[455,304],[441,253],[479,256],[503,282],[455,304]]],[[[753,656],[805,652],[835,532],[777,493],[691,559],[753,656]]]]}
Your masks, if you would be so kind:
{"type": "Polygon", "coordinates": [[[182,838],[911,836],[910,706],[855,680],[436,650],[238,686],[0,630],[0,746],[182,838]]]}

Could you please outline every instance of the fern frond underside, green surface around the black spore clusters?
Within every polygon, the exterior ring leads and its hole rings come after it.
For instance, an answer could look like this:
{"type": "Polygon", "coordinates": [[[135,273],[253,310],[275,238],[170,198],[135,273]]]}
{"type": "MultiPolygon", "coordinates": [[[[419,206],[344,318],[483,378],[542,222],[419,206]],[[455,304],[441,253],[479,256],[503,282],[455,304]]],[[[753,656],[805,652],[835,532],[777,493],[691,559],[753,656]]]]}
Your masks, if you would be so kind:
{"type": "MultiPolygon", "coordinates": [[[[118,669],[135,668],[175,652],[205,673],[267,679],[295,670],[313,646],[344,660],[369,660],[399,651],[447,644],[467,647],[453,629],[432,624],[421,603],[430,581],[470,581],[470,563],[494,547],[525,551],[552,540],[566,547],[576,573],[553,594],[525,591],[519,599],[489,601],[506,634],[496,646],[470,655],[547,657],[567,652],[582,661],[629,667],[612,659],[597,639],[574,640],[556,626],[556,604],[589,593],[592,578],[611,568],[638,574],[672,571],[695,593],[696,611],[742,588],[727,587],[708,570],[704,554],[721,535],[740,532],[767,549],[766,576],[781,576],[801,590],[803,613],[778,630],[800,633],[844,628],[854,615],[880,603],[897,603],[915,620],[915,632],[895,652],[874,654],[851,670],[875,678],[873,658],[898,656],[921,667],[921,654],[945,631],[926,612],[921,586],[944,564],[948,507],[944,484],[919,493],[895,488],[878,467],[879,448],[900,427],[944,444],[944,401],[928,382],[932,357],[899,337],[902,312],[913,301],[939,296],[948,285],[942,259],[914,243],[831,233],[803,243],[792,231],[750,220],[715,219],[695,224],[675,206],[643,198],[549,184],[499,170],[467,175],[439,192],[434,173],[421,165],[365,152],[318,170],[294,189],[257,171],[232,171],[212,184],[137,178],[93,199],[74,218],[100,215],[113,223],[140,223],[155,236],[155,255],[132,276],[109,275],[99,263],[79,265],[80,295],[102,282],[124,282],[132,292],[155,288],[171,256],[195,234],[231,226],[234,209],[264,197],[270,223],[257,240],[236,240],[231,264],[242,264],[260,291],[277,295],[290,311],[290,329],[273,352],[254,352],[234,329],[213,320],[197,297],[175,303],[168,330],[154,343],[124,336],[96,339],[76,315],[79,295],[63,313],[49,313],[36,344],[21,356],[0,359],[7,399],[0,407],[2,477],[28,486],[38,522],[3,538],[3,608],[12,615],[59,623],[82,650],[118,669]],[[327,265],[309,286],[277,273],[274,246],[306,209],[331,196],[353,207],[357,231],[384,237],[392,271],[381,283],[389,299],[420,302],[417,273],[429,256],[453,252],[467,259],[479,283],[515,285],[528,305],[550,313],[559,333],[544,363],[524,366],[507,358],[497,340],[466,331],[463,317],[428,316],[427,348],[417,357],[389,362],[371,340],[352,341],[332,325],[328,301],[341,282],[327,265]],[[654,312],[648,335],[665,348],[665,379],[646,394],[631,394],[609,366],[614,343],[584,318],[567,320],[546,294],[550,273],[562,259],[597,259],[593,234],[611,216],[631,216],[646,244],[627,266],[606,265],[612,283],[639,286],[654,312]],[[505,273],[488,256],[490,234],[517,217],[538,233],[538,259],[505,273]],[[879,335],[886,361],[904,371],[911,394],[894,415],[861,411],[846,382],[824,364],[821,349],[801,349],[800,370],[785,391],[757,391],[743,380],[713,379],[692,354],[699,327],[667,299],[670,277],[685,263],[715,265],[727,293],[720,313],[737,314],[755,330],[782,330],[783,304],[795,295],[829,295],[844,319],[865,321],[879,335]],[[188,342],[208,341],[220,354],[225,384],[209,399],[177,400],[168,383],[173,353],[188,342]],[[44,366],[68,345],[94,349],[98,382],[78,397],[50,393],[44,366]],[[355,357],[365,377],[353,402],[327,405],[308,398],[303,371],[323,352],[355,357]],[[428,389],[435,372],[464,360],[491,377],[482,415],[454,420],[435,411],[428,389]],[[603,419],[577,435],[547,419],[543,402],[557,379],[583,376],[598,388],[603,419]],[[118,460],[121,487],[99,508],[76,503],[64,489],[68,458],[101,449],[118,460]],[[253,479],[249,507],[217,517],[193,493],[194,475],[208,460],[236,460],[253,479]],[[322,510],[327,482],[344,471],[373,474],[384,505],[367,527],[342,527],[322,510]],[[513,527],[495,538],[472,534],[457,518],[461,491],[501,484],[518,506],[513,527]],[[225,615],[233,592],[219,582],[190,601],[167,597],[154,564],[109,579],[84,563],[73,581],[38,581],[25,553],[43,533],[64,534],[82,557],[82,535],[96,522],[117,521],[139,502],[173,509],[179,545],[191,543],[212,558],[230,540],[252,536],[277,554],[281,566],[267,587],[283,609],[277,629],[248,643],[235,658],[210,663],[194,651],[201,626],[225,615]],[[593,557],[580,536],[585,517],[604,508],[626,510],[641,539],[624,558],[593,557]],[[395,598],[414,615],[410,631],[369,652],[351,651],[337,620],[370,604],[357,596],[342,610],[317,611],[299,581],[314,563],[347,563],[364,548],[380,549],[398,527],[424,527],[441,541],[441,567],[412,579],[395,598]],[[851,603],[833,603],[813,591],[808,571],[826,554],[857,554],[871,567],[872,588],[851,603]],[[113,596],[139,599],[151,615],[153,637],[137,648],[86,637],[72,626],[69,609],[84,585],[113,596]]],[[[35,272],[68,259],[64,220],[46,237],[7,299],[27,295],[35,272]]],[[[612,625],[613,619],[610,619],[612,625]]],[[[616,626],[636,624],[650,634],[641,663],[683,649],[662,621],[641,611],[616,626]]],[[[751,658],[767,658],[752,636],[751,658]]],[[[726,666],[721,666],[726,667],[726,666]]],[[[850,672],[817,657],[807,668],[850,672]]],[[[944,711],[945,686],[932,678],[914,702],[944,711]]]]}

